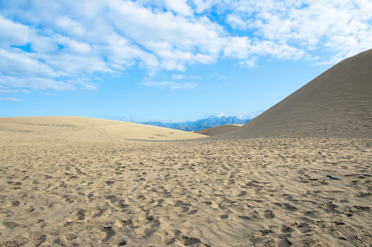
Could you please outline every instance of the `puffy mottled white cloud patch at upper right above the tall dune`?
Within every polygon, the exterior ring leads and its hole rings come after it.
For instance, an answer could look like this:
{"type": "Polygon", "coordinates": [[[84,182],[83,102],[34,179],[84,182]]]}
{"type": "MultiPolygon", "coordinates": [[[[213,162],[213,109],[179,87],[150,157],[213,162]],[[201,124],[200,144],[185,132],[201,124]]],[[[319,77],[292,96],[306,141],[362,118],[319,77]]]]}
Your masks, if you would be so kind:
{"type": "MultiPolygon", "coordinates": [[[[232,28],[253,31],[259,47],[286,47],[294,58],[327,49],[331,56],[322,59],[335,63],[371,48],[371,1],[239,1],[230,11],[226,21],[232,28]]],[[[277,50],[268,52],[280,58],[277,50]]]]}

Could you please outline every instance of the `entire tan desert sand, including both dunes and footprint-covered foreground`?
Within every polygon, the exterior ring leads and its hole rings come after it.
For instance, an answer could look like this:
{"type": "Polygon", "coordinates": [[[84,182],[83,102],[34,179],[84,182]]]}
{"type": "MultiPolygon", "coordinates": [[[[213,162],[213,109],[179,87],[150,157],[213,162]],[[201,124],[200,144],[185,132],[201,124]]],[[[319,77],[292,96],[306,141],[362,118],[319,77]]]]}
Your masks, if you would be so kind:
{"type": "Polygon", "coordinates": [[[370,247],[371,61],[214,137],[0,118],[0,246],[370,247]]]}

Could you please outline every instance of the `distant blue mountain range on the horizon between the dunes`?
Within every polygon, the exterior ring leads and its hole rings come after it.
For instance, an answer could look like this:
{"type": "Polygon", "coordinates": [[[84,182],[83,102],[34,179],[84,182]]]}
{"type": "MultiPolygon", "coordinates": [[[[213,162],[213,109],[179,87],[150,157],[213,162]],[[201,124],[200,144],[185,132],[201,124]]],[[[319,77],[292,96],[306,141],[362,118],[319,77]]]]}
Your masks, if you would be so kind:
{"type": "Polygon", "coordinates": [[[197,121],[184,121],[180,123],[162,123],[158,121],[147,121],[138,124],[147,124],[164,128],[173,128],[175,130],[196,131],[205,128],[222,126],[225,124],[247,124],[250,119],[239,119],[237,117],[208,117],[197,121]]]}

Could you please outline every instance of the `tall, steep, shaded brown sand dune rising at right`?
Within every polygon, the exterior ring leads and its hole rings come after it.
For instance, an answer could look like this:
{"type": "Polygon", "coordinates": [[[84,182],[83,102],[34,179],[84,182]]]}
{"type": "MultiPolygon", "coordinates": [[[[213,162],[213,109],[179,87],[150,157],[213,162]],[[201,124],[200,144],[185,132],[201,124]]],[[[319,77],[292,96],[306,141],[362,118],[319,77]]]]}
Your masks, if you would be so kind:
{"type": "Polygon", "coordinates": [[[372,137],[372,49],[339,62],[239,130],[247,137],[372,137]]]}

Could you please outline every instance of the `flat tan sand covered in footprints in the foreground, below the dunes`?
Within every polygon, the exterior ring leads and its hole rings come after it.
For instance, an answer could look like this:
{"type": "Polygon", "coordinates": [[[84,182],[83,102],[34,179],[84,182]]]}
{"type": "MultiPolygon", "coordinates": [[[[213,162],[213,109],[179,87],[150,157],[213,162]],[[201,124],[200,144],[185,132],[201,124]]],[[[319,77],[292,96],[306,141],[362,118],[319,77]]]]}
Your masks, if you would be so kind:
{"type": "Polygon", "coordinates": [[[372,139],[0,139],[0,153],[0,246],[372,244],[372,139]]]}

